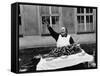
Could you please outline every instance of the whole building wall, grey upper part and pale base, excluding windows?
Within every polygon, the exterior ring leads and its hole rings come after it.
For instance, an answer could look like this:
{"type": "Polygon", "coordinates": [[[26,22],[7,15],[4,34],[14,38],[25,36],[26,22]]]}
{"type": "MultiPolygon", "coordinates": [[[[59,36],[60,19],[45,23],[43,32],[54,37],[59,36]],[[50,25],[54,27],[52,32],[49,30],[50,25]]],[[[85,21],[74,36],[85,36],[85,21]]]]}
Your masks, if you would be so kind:
{"type": "MultiPolygon", "coordinates": [[[[38,6],[22,5],[21,6],[21,18],[22,18],[22,30],[24,37],[20,38],[21,48],[32,48],[40,46],[53,46],[56,45],[56,41],[51,36],[41,36],[42,26],[38,12],[38,6]],[[41,29],[41,30],[40,30],[41,29]]],[[[62,7],[61,10],[61,25],[68,29],[69,34],[73,37],[75,42],[78,43],[95,43],[96,42],[96,10],[94,10],[94,33],[77,34],[75,29],[77,24],[75,23],[75,8],[62,7]]]]}

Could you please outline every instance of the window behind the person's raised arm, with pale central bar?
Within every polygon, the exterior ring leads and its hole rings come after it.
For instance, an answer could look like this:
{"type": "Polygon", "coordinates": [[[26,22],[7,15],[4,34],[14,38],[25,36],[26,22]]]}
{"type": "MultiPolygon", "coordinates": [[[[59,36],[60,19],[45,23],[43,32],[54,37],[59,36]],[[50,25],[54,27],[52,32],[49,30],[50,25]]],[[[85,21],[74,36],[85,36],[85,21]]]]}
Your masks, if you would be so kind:
{"type": "Polygon", "coordinates": [[[58,27],[59,20],[60,20],[59,7],[41,6],[40,7],[40,17],[41,17],[41,23],[42,23],[42,34],[49,33],[47,27],[44,25],[45,21],[47,21],[53,29],[59,28],[58,27]]]}

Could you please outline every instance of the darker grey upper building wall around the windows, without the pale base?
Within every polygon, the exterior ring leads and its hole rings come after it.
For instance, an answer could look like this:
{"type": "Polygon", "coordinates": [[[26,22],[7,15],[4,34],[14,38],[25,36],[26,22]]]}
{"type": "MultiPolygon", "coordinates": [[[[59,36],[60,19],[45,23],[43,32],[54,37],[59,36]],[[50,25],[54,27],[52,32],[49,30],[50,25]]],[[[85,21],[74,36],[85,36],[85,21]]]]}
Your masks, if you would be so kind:
{"type": "MultiPolygon", "coordinates": [[[[34,5],[20,5],[22,26],[20,26],[20,32],[24,36],[41,35],[43,27],[41,25],[39,7],[34,5]],[[41,30],[40,30],[41,29],[41,30]]],[[[65,26],[68,29],[69,34],[76,34],[77,24],[75,23],[75,8],[62,7],[60,15],[61,26],[65,26]]],[[[96,10],[94,9],[94,31],[96,32],[96,10]]],[[[58,27],[58,26],[57,26],[58,27]]],[[[53,27],[54,28],[54,27],[53,27]]],[[[46,28],[47,29],[47,28],[46,28]]],[[[56,28],[55,28],[56,29],[56,28]]],[[[55,30],[54,29],[54,30],[55,30]]],[[[88,33],[89,34],[89,33],[88,33]]],[[[77,34],[76,34],[77,35],[77,34]]],[[[80,34],[81,35],[81,34],[80,34]]]]}

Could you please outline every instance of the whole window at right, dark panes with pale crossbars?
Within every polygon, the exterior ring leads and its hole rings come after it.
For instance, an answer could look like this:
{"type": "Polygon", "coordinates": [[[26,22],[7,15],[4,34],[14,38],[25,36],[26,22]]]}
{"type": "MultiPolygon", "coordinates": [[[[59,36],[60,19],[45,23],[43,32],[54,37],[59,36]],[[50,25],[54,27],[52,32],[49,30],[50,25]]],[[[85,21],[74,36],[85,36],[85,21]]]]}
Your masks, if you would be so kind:
{"type": "Polygon", "coordinates": [[[77,33],[93,32],[93,9],[77,8],[77,33]]]}

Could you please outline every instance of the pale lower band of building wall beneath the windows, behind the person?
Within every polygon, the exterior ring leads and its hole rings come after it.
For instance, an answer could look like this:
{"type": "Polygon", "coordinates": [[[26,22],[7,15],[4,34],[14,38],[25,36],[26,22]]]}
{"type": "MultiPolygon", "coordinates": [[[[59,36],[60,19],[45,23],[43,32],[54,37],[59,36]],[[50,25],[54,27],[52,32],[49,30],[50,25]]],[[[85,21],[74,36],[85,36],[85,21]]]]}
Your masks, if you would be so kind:
{"type": "MultiPolygon", "coordinates": [[[[96,34],[72,35],[75,42],[78,43],[96,43],[96,34]]],[[[20,49],[55,46],[56,41],[51,36],[25,36],[19,39],[20,49]]]]}

